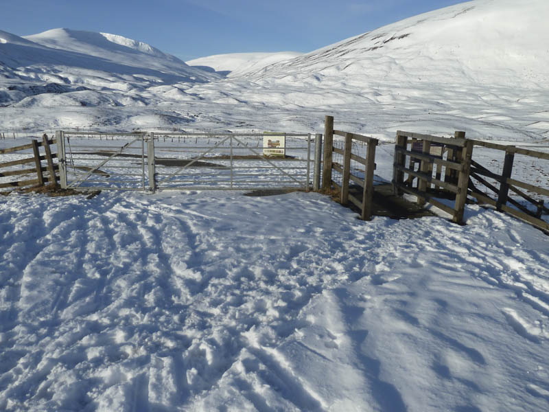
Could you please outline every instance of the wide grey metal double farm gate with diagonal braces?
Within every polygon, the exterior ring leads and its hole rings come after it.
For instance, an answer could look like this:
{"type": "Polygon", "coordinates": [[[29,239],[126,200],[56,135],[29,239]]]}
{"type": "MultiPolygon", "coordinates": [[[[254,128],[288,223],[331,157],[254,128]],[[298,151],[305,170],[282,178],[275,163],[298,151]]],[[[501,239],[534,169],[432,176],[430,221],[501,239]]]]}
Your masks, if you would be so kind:
{"type": "MultiPolygon", "coordinates": [[[[321,136],[314,137],[318,148],[321,136]]],[[[58,131],[56,138],[60,184],[73,190],[309,190],[311,185],[310,134],[58,131]]]]}

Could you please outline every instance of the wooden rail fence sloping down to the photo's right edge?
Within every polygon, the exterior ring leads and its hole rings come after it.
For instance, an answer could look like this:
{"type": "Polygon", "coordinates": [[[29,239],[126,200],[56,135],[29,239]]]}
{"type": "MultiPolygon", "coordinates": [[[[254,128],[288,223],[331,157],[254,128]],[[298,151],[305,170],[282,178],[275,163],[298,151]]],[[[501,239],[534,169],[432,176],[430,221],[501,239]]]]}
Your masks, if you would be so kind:
{"type": "Polygon", "coordinates": [[[549,161],[549,153],[537,152],[534,150],[517,148],[515,146],[503,146],[500,144],[488,143],[486,141],[473,140],[474,146],[483,146],[485,148],[500,150],[504,152],[504,164],[501,174],[491,172],[487,167],[480,165],[476,161],[471,163],[471,180],[469,181],[469,196],[473,197],[479,203],[486,203],[494,206],[499,211],[511,214],[517,218],[549,232],[549,224],[541,219],[543,214],[549,214],[549,208],[546,207],[543,200],[537,200],[526,194],[524,191],[532,192],[540,196],[549,196],[549,190],[544,187],[538,187],[530,183],[512,179],[513,163],[515,155],[524,155],[535,159],[544,159],[549,161]],[[491,183],[487,180],[495,181],[491,183]],[[482,189],[492,192],[490,196],[482,189]],[[509,196],[509,191],[517,194],[526,201],[523,205],[509,196]],[[535,210],[529,209],[527,205],[535,210]]]}

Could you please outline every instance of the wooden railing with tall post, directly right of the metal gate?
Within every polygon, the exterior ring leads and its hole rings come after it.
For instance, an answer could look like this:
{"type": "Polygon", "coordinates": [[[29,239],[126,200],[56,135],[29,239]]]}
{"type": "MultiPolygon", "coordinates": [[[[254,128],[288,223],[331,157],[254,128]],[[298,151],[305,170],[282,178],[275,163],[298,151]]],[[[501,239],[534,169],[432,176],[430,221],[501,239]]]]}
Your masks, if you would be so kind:
{"type": "Polygon", "coordinates": [[[360,218],[370,220],[372,216],[372,195],[373,195],[373,171],[375,170],[375,148],[377,139],[357,135],[355,133],[334,130],[334,117],[326,116],[325,119],[325,140],[324,140],[324,163],[323,163],[323,189],[329,189],[331,185],[340,190],[340,201],[347,205],[349,201],[360,209],[360,218]],[[345,138],[344,148],[334,147],[334,135],[345,138]],[[360,141],[366,144],[366,157],[353,153],[353,141],[360,141]],[[342,156],[342,164],[333,161],[334,153],[342,156]],[[364,166],[364,179],[351,171],[351,160],[364,166]],[[342,175],[342,183],[339,185],[332,179],[332,170],[342,175]],[[349,193],[349,183],[355,183],[362,187],[362,198],[359,199],[349,193]]]}

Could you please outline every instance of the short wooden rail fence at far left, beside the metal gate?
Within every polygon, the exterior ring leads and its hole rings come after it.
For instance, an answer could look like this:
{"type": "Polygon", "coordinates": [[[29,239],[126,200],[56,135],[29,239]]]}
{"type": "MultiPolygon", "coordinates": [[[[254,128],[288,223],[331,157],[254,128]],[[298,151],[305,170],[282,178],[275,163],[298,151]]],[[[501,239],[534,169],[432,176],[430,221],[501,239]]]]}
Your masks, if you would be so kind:
{"type": "Polygon", "coordinates": [[[57,158],[57,155],[52,153],[50,148],[50,145],[54,143],[56,143],[55,139],[48,139],[47,135],[43,135],[42,141],[33,139],[30,144],[1,149],[0,155],[32,149],[33,156],[0,163],[0,177],[15,176],[15,179],[23,179],[1,182],[0,189],[44,186],[45,183],[50,183],[53,187],[57,187],[59,167],[54,163],[54,159],[57,158]],[[43,148],[43,155],[40,154],[40,148],[43,148]],[[44,166],[42,165],[42,161],[46,161],[44,166]],[[27,165],[30,163],[34,164],[34,168],[14,169],[14,166],[27,165]],[[47,172],[47,175],[45,175],[45,172],[47,172]],[[36,179],[28,179],[29,175],[36,176],[36,179]]]}

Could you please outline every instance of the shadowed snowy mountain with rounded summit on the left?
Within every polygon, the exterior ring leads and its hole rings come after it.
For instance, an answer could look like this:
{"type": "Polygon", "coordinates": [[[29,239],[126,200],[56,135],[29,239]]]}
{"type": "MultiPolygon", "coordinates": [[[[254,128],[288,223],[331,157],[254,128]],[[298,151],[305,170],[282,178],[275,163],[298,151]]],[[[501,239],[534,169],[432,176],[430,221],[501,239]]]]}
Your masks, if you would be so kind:
{"type": "Polygon", "coordinates": [[[218,78],[114,34],[55,29],[26,38],[0,32],[0,39],[3,105],[142,105],[148,87],[218,78]]]}

